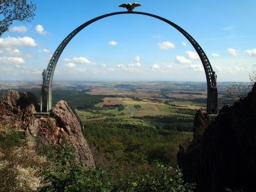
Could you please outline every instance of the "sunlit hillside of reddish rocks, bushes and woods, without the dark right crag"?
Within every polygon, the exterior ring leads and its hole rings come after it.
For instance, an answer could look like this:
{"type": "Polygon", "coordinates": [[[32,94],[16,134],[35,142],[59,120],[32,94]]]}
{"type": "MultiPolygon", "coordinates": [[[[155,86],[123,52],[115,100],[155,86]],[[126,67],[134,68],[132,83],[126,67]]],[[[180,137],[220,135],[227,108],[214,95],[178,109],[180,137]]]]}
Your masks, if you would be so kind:
{"type": "Polygon", "coordinates": [[[0,191],[194,188],[183,182],[179,168],[170,166],[176,164],[179,143],[190,138],[190,134],[111,121],[87,123],[83,128],[76,112],[63,100],[57,102],[49,117],[35,115],[38,107],[37,98],[30,92],[3,94],[0,191]],[[83,134],[89,136],[91,149],[83,134]]]}

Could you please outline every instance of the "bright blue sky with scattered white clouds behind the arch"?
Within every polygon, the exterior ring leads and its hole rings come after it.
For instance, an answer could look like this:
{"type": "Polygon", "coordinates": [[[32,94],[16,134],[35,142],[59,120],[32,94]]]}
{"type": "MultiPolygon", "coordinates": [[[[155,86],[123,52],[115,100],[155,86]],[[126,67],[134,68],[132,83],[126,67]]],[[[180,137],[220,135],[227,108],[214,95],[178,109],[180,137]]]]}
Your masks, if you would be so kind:
{"type": "MultiPolygon", "coordinates": [[[[31,23],[0,37],[0,80],[40,80],[60,42],[79,25],[123,11],[126,1],[40,1],[31,23]]],[[[217,81],[249,81],[256,70],[256,1],[141,0],[137,11],[185,29],[203,48],[217,81]]],[[[110,16],[78,33],[58,60],[54,80],[205,81],[198,55],[168,24],[142,15],[110,16]]]]}

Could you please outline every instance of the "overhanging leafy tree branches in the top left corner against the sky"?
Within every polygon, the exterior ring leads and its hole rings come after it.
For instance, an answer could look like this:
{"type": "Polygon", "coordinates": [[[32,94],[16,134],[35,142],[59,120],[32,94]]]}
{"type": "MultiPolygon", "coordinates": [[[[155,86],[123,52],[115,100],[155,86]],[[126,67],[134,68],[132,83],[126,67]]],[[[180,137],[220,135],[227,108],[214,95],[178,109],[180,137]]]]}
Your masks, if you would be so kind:
{"type": "Polygon", "coordinates": [[[35,4],[26,0],[0,0],[0,36],[8,31],[14,20],[30,22],[35,4]]]}

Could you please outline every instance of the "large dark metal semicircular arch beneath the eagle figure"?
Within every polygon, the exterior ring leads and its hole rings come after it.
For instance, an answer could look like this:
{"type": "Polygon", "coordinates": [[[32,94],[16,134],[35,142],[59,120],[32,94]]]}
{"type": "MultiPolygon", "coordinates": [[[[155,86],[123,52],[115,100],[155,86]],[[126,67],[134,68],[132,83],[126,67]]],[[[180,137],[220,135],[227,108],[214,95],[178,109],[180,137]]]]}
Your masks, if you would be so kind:
{"type": "Polygon", "coordinates": [[[184,29],[182,29],[177,24],[162,18],[160,16],[157,16],[155,14],[150,14],[147,12],[112,12],[109,14],[104,14],[102,16],[98,16],[96,18],[93,18],[92,20],[89,20],[88,22],[85,22],[78,28],[74,29],[63,41],[60,43],[58,48],[56,48],[46,71],[43,72],[43,85],[42,85],[42,96],[41,96],[41,111],[47,112],[50,111],[52,108],[52,83],[53,83],[53,74],[54,69],[56,67],[56,64],[58,62],[58,59],[60,58],[60,55],[62,54],[62,51],[64,48],[68,45],[70,40],[75,37],[79,31],[81,31],[83,28],[89,26],[89,24],[92,24],[93,22],[96,22],[97,20],[100,20],[102,18],[106,18],[108,16],[114,16],[117,14],[142,14],[146,16],[151,16],[154,18],[158,18],[159,20],[162,20],[163,22],[166,22],[167,24],[173,26],[173,28],[177,29],[188,39],[188,41],[191,43],[191,45],[195,48],[196,52],[200,56],[200,60],[202,61],[203,68],[205,71],[205,76],[207,80],[207,113],[217,113],[217,82],[216,82],[216,75],[213,71],[211,64],[203,51],[203,49],[200,47],[200,45],[196,42],[196,40],[189,35],[184,29]]]}

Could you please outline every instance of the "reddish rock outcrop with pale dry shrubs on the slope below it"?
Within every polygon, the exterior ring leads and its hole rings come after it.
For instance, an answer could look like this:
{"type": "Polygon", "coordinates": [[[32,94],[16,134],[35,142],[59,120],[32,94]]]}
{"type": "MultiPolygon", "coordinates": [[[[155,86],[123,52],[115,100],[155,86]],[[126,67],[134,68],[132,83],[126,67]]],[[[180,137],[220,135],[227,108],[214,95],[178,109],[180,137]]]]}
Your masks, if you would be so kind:
{"type": "Polygon", "coordinates": [[[45,185],[39,172],[72,148],[74,163],[95,166],[75,111],[58,102],[49,117],[33,115],[38,109],[31,92],[9,91],[0,101],[0,191],[30,191],[45,185]],[[60,153],[60,154],[58,154],[60,153]],[[54,161],[53,161],[54,158],[54,161]]]}

